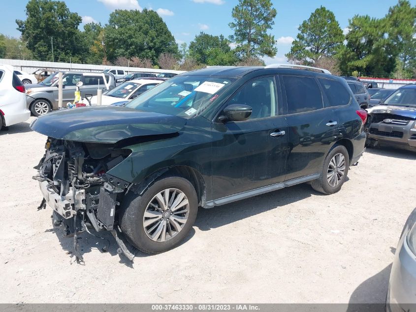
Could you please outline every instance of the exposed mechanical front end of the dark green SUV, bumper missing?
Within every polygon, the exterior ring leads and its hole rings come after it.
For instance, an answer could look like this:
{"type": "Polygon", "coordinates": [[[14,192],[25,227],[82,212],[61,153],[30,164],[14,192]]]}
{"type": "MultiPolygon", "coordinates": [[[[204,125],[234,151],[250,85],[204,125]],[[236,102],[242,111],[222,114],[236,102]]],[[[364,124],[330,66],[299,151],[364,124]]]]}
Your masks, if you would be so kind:
{"type": "Polygon", "coordinates": [[[77,248],[77,233],[94,228],[96,232],[111,231],[130,260],[126,245],[117,235],[116,210],[118,196],[124,196],[128,183],[107,174],[131,153],[112,143],[83,143],[48,138],[46,152],[35,167],[33,176],[43,194],[41,207],[46,203],[54,210],[53,222],[61,225],[64,236],[74,238],[73,255],[82,261],[77,248]]]}

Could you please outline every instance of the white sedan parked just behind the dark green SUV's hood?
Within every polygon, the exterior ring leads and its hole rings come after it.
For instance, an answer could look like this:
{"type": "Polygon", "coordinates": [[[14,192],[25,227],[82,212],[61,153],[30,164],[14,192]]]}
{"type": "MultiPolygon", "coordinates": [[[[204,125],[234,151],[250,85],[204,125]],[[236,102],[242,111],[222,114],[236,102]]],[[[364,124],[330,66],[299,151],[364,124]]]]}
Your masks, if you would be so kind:
{"type": "MultiPolygon", "coordinates": [[[[101,105],[133,100],[163,81],[162,79],[134,79],[127,81],[103,94],[101,97],[101,105]]],[[[89,100],[91,105],[97,104],[97,96],[93,96],[89,100]]],[[[87,99],[84,99],[82,102],[87,105],[89,104],[87,99]]]]}

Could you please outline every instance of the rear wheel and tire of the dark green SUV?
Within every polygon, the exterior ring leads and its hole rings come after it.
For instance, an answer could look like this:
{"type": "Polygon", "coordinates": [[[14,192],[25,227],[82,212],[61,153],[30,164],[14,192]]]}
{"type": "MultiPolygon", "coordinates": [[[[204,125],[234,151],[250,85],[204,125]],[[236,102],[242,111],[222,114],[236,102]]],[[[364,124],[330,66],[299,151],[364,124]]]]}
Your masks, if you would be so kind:
{"type": "Polygon", "coordinates": [[[344,145],[334,145],[323,162],[320,177],[312,181],[312,188],[323,194],[338,192],[347,179],[350,156],[344,145]]]}

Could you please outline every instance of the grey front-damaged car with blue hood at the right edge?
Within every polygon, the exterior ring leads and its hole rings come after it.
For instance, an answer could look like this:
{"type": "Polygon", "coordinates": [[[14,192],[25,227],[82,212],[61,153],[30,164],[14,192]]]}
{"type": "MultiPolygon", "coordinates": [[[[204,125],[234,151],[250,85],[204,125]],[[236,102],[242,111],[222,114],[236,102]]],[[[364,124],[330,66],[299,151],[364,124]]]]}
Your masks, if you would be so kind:
{"type": "Polygon", "coordinates": [[[400,87],[368,113],[368,146],[416,149],[416,85],[400,87]]]}

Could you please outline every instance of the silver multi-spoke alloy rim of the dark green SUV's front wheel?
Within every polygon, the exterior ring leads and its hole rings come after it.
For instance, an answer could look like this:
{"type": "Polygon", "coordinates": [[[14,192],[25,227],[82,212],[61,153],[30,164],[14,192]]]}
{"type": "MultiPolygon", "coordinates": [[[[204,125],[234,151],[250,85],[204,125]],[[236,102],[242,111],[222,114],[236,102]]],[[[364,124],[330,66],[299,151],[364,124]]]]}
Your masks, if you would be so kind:
{"type": "Polygon", "coordinates": [[[143,215],[146,235],[155,242],[174,238],[185,226],[189,216],[189,201],[181,190],[165,189],[156,194],[143,215]]]}

